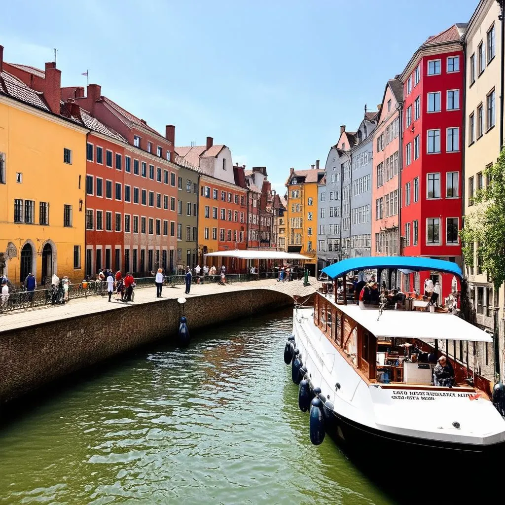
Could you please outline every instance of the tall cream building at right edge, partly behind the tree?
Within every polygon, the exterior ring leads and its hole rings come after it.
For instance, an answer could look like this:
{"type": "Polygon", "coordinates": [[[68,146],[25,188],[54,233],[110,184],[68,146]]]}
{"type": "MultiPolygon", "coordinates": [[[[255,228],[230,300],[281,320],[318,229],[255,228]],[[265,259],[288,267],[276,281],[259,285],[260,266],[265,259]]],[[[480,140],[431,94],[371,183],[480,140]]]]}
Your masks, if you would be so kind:
{"type": "MultiPolygon", "coordinates": [[[[501,23],[498,19],[500,7],[496,0],[481,0],[465,33],[466,45],[466,98],[465,98],[465,215],[476,211],[473,203],[475,192],[485,186],[483,175],[486,167],[496,162],[500,149],[500,64],[501,23]]],[[[500,334],[500,370],[503,379],[504,320],[503,286],[499,292],[493,290],[486,272],[474,258],[474,267],[465,266],[469,281],[470,298],[477,313],[477,323],[489,332],[493,331],[493,307],[499,308],[498,326],[500,334]]],[[[472,352],[470,350],[470,352],[472,352]]],[[[463,355],[463,352],[461,352],[463,355]]],[[[457,352],[458,359],[460,359],[457,352]]],[[[461,357],[466,359],[465,357],[461,357]]],[[[478,361],[482,374],[490,378],[493,373],[493,346],[481,344],[478,361]],[[487,348],[486,348],[487,346],[487,348]]]]}

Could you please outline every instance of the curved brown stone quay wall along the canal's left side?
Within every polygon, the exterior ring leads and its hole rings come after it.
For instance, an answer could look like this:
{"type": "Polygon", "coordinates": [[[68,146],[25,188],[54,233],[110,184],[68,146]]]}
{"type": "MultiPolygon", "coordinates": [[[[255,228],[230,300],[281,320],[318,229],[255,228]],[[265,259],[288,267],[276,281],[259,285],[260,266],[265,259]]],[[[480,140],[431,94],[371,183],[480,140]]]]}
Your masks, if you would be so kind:
{"type": "MultiPolygon", "coordinates": [[[[250,289],[188,297],[184,312],[195,337],[199,328],[290,305],[285,293],[250,289]]],[[[0,404],[141,345],[174,340],[180,315],[174,298],[0,331],[0,404]]]]}

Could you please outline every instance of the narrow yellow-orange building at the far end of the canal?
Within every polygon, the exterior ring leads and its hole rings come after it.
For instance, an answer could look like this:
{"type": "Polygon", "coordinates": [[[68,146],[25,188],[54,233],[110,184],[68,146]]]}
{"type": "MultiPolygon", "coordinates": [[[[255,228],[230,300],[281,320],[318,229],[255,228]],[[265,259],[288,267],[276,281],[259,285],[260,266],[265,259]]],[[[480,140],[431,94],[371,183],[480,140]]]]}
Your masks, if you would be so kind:
{"type": "Polygon", "coordinates": [[[310,258],[305,262],[309,275],[316,275],[317,264],[317,188],[324,170],[290,169],[286,181],[287,252],[298,252],[310,258]]]}

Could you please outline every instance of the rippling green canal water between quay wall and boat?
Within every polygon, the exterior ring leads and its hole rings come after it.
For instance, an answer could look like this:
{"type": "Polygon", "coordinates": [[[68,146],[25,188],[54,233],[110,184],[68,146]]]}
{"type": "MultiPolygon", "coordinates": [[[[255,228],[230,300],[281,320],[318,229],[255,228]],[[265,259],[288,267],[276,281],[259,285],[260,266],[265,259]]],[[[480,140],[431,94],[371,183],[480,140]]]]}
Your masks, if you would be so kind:
{"type": "Polygon", "coordinates": [[[195,332],[4,413],[0,503],[393,503],[331,439],[311,445],[291,318],[195,332]]]}

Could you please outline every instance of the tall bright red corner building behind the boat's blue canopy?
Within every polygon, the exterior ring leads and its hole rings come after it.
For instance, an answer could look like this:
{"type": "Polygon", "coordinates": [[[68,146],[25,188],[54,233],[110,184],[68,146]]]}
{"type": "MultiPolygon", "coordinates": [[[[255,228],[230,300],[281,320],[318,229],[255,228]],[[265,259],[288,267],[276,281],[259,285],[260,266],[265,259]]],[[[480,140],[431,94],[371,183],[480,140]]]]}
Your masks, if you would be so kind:
{"type": "MultiPolygon", "coordinates": [[[[461,266],[463,69],[465,24],[424,42],[400,76],[403,83],[401,235],[403,256],[429,256],[461,266]]],[[[452,276],[420,272],[403,288],[423,291],[427,277],[452,287],[452,276]]]]}

